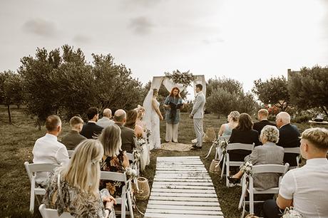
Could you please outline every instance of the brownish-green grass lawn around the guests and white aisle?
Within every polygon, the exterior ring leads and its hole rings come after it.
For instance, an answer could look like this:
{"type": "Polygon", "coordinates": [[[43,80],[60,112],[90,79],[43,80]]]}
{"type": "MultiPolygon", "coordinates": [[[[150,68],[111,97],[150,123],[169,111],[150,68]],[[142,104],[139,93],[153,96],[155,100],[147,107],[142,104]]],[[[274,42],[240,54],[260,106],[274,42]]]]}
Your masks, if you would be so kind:
{"type": "MultiPolygon", "coordinates": [[[[25,115],[22,109],[12,109],[12,118],[14,125],[9,125],[8,115],[4,106],[0,107],[0,217],[41,217],[39,209],[35,209],[33,215],[29,214],[29,191],[30,182],[26,175],[24,162],[32,162],[32,149],[37,138],[46,133],[43,127],[39,131],[34,126],[34,120],[28,115],[25,115]]],[[[225,123],[226,118],[218,119],[217,115],[205,115],[204,128],[214,127],[217,133],[218,128],[222,123],[225,123]]],[[[300,130],[309,128],[309,125],[297,125],[300,130]]],[[[162,142],[165,138],[165,121],[160,123],[162,130],[162,142]]],[[[63,124],[63,133],[61,138],[69,127],[67,123],[63,124]]],[[[188,118],[188,114],[181,115],[179,126],[179,142],[190,143],[190,140],[195,138],[193,130],[193,120],[188,118]]],[[[214,152],[204,159],[203,157],[210,148],[211,143],[207,142],[203,145],[202,150],[189,152],[173,152],[166,150],[153,150],[151,152],[151,162],[142,173],[143,177],[147,177],[150,182],[150,187],[153,183],[155,175],[156,157],[166,156],[200,156],[208,170],[210,162],[214,158],[214,152]]],[[[211,175],[212,182],[217,192],[217,197],[220,202],[223,214],[225,217],[240,217],[240,212],[237,209],[237,204],[240,198],[240,187],[225,187],[225,183],[220,181],[217,175],[211,175]]],[[[137,202],[139,209],[145,212],[147,201],[137,202]]],[[[142,216],[140,216],[142,217],[142,216]]]]}

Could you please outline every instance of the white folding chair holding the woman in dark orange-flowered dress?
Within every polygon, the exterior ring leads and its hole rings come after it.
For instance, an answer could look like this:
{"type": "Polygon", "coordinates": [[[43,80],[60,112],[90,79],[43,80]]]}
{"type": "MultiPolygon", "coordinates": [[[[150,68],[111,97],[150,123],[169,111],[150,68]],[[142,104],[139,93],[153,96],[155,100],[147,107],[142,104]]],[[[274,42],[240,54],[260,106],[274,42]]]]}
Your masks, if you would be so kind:
{"type": "Polygon", "coordinates": [[[108,172],[101,171],[101,180],[112,180],[118,182],[124,182],[122,188],[121,197],[116,198],[116,203],[121,204],[121,218],[125,217],[125,214],[130,214],[130,217],[133,218],[133,207],[131,199],[131,182],[127,180],[125,172],[108,172]],[[126,207],[128,207],[128,212],[126,212],[126,207]]]}

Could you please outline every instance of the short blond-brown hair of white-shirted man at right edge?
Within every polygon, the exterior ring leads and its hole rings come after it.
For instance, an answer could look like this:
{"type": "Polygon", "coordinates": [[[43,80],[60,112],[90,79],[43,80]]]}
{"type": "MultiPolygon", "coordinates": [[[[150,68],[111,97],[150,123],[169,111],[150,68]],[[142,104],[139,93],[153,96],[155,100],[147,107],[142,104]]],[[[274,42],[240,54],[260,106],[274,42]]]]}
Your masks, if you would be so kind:
{"type": "Polygon", "coordinates": [[[308,140],[319,150],[326,152],[328,150],[328,130],[326,128],[309,128],[304,130],[301,138],[308,140]]]}

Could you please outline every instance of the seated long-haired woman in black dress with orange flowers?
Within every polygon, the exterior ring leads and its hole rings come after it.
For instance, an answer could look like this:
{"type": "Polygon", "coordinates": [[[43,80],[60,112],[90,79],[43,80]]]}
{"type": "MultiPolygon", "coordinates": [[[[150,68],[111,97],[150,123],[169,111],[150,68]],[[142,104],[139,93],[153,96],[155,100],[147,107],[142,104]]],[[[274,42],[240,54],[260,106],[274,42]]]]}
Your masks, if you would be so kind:
{"type": "MultiPolygon", "coordinates": [[[[121,150],[121,129],[118,125],[110,125],[103,130],[99,137],[103,144],[103,158],[101,160],[101,170],[109,172],[125,172],[129,166],[128,156],[121,150]]],[[[101,180],[100,188],[107,188],[113,197],[121,197],[121,182],[111,180],[101,180]]]]}

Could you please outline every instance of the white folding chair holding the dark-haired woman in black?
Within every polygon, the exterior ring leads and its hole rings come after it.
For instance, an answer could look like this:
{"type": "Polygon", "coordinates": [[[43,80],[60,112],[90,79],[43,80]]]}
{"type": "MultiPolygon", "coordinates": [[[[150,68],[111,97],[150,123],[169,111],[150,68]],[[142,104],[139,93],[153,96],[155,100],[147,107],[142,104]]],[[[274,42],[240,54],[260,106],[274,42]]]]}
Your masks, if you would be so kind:
{"type": "Polygon", "coordinates": [[[230,176],[230,167],[240,167],[240,165],[242,165],[242,163],[244,163],[243,160],[242,161],[231,161],[228,151],[230,151],[230,150],[249,150],[250,152],[252,152],[253,149],[254,149],[254,144],[230,143],[227,145],[227,152],[225,153],[225,157],[223,157],[223,165],[222,165],[222,170],[221,170],[221,178],[222,178],[223,173],[225,171],[225,167],[226,167],[225,184],[227,185],[227,187],[232,186],[230,184],[229,180],[227,179],[227,177],[230,176]]]}

